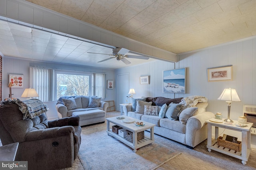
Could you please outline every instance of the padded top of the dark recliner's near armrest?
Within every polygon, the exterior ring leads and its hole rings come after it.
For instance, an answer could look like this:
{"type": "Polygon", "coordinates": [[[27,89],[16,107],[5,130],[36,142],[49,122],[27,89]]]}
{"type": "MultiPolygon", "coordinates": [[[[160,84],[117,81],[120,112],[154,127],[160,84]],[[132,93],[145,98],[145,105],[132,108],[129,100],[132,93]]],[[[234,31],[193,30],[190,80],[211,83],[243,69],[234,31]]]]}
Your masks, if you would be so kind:
{"type": "Polygon", "coordinates": [[[46,138],[56,138],[59,136],[66,136],[73,134],[75,136],[75,129],[72,126],[53,127],[47,129],[38,129],[30,131],[26,134],[26,141],[36,141],[46,138]]]}

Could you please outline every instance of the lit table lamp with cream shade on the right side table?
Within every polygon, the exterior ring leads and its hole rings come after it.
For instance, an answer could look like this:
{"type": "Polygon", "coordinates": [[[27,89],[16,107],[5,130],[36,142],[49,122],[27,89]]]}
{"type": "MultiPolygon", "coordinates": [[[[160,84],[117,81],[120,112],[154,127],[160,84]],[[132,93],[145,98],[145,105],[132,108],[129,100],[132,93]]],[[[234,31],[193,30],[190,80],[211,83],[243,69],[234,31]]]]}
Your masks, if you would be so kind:
{"type": "Polygon", "coordinates": [[[238,97],[238,94],[236,93],[236,89],[234,88],[225,88],[218,98],[218,100],[225,100],[227,102],[228,106],[228,119],[225,119],[225,122],[233,123],[229,117],[230,117],[230,104],[232,102],[241,102],[241,100],[238,97]]]}

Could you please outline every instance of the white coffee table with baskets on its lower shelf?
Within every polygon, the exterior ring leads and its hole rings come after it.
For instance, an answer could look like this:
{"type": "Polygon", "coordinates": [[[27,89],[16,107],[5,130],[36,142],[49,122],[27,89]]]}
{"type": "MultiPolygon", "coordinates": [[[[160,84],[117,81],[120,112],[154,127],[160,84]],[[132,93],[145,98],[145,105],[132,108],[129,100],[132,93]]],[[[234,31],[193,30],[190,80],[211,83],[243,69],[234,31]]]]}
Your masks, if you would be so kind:
{"type": "Polygon", "coordinates": [[[155,126],[155,124],[143,121],[145,123],[144,126],[136,126],[136,125],[134,125],[134,123],[136,121],[141,122],[141,120],[134,119],[132,117],[128,117],[128,116],[124,116],[124,115],[116,116],[116,117],[106,118],[108,135],[111,135],[111,136],[115,137],[116,139],[118,139],[119,141],[121,141],[122,143],[128,145],[129,147],[131,147],[133,149],[134,152],[136,152],[138,148],[141,148],[145,145],[148,145],[148,144],[154,142],[154,126],[155,126]],[[124,119],[116,119],[116,117],[124,117],[124,119]],[[134,121],[134,123],[124,123],[123,121],[125,121],[125,120],[132,120],[132,121],[134,121]],[[110,122],[124,128],[128,131],[131,131],[132,135],[133,135],[133,143],[127,141],[126,139],[120,137],[118,134],[112,132],[112,128],[110,130],[110,122]],[[147,129],[150,129],[150,137],[145,136],[144,139],[137,141],[137,133],[141,132],[141,131],[145,131],[147,129]]]}

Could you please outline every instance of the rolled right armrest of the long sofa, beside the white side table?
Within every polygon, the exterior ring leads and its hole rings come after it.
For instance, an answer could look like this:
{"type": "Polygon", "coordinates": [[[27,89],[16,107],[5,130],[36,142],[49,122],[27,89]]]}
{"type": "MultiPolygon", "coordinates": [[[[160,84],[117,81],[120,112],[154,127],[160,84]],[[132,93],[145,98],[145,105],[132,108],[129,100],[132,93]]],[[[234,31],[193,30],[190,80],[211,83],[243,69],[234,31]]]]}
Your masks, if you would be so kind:
{"type": "Polygon", "coordinates": [[[207,138],[205,121],[214,117],[214,113],[205,111],[190,117],[186,123],[186,145],[195,147],[207,138]]]}

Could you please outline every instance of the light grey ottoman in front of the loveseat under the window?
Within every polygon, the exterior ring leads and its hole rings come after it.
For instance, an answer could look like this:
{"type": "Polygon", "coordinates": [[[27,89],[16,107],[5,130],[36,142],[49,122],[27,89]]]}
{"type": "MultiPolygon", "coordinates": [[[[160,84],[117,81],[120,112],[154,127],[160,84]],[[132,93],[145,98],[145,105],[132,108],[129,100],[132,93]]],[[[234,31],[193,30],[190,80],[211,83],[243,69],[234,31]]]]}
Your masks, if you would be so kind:
{"type": "Polygon", "coordinates": [[[73,116],[79,116],[79,125],[90,125],[93,123],[104,123],[106,118],[106,113],[100,109],[88,110],[88,111],[74,111],[73,116]]]}

